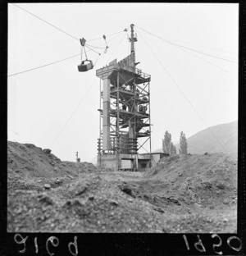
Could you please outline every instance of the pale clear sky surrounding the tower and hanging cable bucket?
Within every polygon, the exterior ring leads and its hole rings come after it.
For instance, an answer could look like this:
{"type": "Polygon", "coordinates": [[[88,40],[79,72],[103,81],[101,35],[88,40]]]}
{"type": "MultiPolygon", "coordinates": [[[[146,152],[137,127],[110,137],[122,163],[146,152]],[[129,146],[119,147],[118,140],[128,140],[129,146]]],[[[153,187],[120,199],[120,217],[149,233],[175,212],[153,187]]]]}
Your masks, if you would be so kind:
{"type": "Polygon", "coordinates": [[[166,130],[175,142],[181,130],[189,138],[238,120],[239,4],[16,5],[43,21],[8,4],[8,140],[52,149],[63,161],[79,152],[81,162],[92,162],[99,138],[96,70],[130,54],[130,24],[138,68],[151,75],[153,151],[166,130]],[[80,73],[82,37],[99,48],[87,53],[93,70],[80,73]]]}

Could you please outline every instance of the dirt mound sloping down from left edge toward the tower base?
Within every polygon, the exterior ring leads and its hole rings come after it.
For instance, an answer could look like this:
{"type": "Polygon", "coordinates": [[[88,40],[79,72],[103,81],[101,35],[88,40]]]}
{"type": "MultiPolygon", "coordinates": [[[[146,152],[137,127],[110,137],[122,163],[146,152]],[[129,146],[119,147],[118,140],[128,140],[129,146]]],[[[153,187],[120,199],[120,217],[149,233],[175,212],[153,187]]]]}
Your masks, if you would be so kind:
{"type": "Polygon", "coordinates": [[[96,171],[89,162],[62,162],[52,153],[44,153],[34,144],[7,143],[8,176],[25,177],[78,176],[80,172],[96,171]]]}

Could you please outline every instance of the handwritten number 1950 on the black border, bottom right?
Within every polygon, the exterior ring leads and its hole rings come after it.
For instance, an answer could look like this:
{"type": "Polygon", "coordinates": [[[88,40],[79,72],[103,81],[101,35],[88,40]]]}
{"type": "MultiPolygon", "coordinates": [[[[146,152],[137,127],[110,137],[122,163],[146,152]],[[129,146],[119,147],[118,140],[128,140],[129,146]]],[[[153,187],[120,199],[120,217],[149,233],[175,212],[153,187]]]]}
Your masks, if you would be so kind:
{"type": "MultiPolygon", "coordinates": [[[[195,249],[197,249],[199,252],[201,253],[205,253],[206,252],[206,249],[203,245],[203,242],[202,240],[200,239],[200,236],[197,235],[198,237],[198,242],[194,243],[194,247],[195,249]]],[[[219,255],[222,255],[223,252],[221,252],[220,250],[218,250],[217,248],[218,247],[221,247],[222,245],[222,240],[221,240],[221,237],[220,235],[217,235],[217,234],[212,234],[211,235],[212,239],[216,240],[216,244],[213,244],[212,245],[212,249],[213,251],[216,253],[216,254],[219,254],[219,255]],[[218,242],[217,242],[218,240],[218,242]]],[[[183,235],[183,238],[185,240],[185,245],[186,245],[186,248],[189,250],[189,242],[187,240],[187,237],[186,235],[183,235]]],[[[235,251],[239,252],[239,250],[242,249],[242,241],[239,239],[239,237],[237,236],[230,236],[228,239],[227,239],[227,245],[231,248],[231,249],[234,249],[235,251]],[[232,242],[234,241],[234,243],[232,242]],[[235,247],[235,241],[237,241],[239,243],[239,246],[235,247]]]]}

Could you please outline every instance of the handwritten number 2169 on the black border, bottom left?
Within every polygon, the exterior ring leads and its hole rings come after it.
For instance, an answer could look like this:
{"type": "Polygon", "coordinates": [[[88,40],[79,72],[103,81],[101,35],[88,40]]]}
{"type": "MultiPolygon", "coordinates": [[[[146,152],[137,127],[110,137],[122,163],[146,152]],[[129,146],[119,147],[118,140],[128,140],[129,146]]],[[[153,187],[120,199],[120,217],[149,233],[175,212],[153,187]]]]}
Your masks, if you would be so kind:
{"type": "MultiPolygon", "coordinates": [[[[28,235],[24,238],[20,234],[16,234],[14,236],[14,240],[16,244],[21,245],[21,249],[19,249],[19,252],[21,254],[25,253],[25,242],[28,239],[28,235]]],[[[46,240],[46,250],[50,256],[53,256],[54,253],[52,253],[52,247],[57,247],[59,245],[59,239],[56,236],[50,236],[48,240],[46,240]]],[[[39,253],[39,244],[38,244],[38,238],[34,238],[34,247],[35,247],[35,253],[39,253]]],[[[77,245],[77,236],[75,235],[74,242],[70,242],[68,245],[68,250],[73,256],[78,255],[78,245],[77,245]]]]}

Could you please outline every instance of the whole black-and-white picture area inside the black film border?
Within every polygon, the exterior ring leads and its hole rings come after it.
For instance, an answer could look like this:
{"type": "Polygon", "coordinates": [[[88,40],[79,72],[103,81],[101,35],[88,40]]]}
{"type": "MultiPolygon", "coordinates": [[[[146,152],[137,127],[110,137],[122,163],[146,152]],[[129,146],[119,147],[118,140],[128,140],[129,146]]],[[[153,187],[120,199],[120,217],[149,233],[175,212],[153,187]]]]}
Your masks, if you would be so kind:
{"type": "Polygon", "coordinates": [[[237,233],[239,3],[7,8],[7,232],[237,233]]]}

